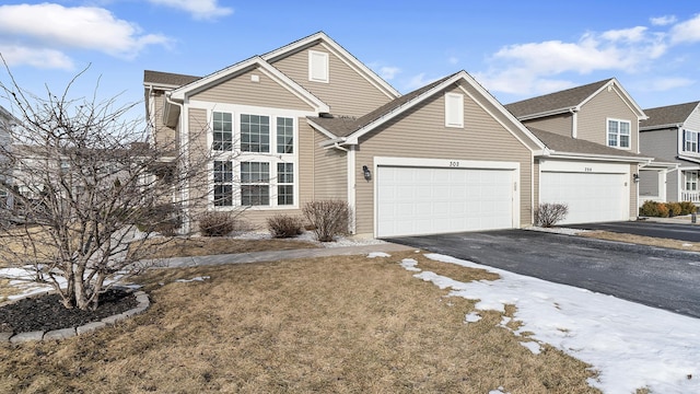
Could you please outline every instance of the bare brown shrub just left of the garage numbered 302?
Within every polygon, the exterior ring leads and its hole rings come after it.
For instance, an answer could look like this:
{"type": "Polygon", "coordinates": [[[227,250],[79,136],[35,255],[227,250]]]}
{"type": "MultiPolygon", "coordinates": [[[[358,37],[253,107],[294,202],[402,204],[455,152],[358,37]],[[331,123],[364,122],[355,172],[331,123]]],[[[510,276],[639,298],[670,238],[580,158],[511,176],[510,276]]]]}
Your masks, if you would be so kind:
{"type": "Polygon", "coordinates": [[[334,236],[348,233],[350,206],[347,201],[311,201],[306,202],[302,211],[311,223],[316,239],[320,242],[330,242],[334,236]]]}

